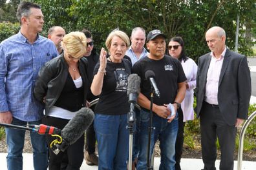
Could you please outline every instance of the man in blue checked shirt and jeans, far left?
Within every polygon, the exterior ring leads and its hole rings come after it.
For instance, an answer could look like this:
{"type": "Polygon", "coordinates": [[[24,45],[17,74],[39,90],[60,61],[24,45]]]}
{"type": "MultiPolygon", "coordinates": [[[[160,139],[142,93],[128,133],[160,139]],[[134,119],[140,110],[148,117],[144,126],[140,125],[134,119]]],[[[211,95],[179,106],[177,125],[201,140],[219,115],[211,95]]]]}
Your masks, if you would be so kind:
{"type": "MultiPolygon", "coordinates": [[[[33,97],[37,71],[58,55],[54,43],[38,35],[43,28],[41,7],[22,2],[17,8],[21,30],[0,44],[0,122],[25,126],[41,124],[43,105],[33,97]]],[[[6,128],[8,169],[23,169],[25,131],[6,128]]],[[[47,169],[45,135],[30,133],[34,169],[47,169]]]]}

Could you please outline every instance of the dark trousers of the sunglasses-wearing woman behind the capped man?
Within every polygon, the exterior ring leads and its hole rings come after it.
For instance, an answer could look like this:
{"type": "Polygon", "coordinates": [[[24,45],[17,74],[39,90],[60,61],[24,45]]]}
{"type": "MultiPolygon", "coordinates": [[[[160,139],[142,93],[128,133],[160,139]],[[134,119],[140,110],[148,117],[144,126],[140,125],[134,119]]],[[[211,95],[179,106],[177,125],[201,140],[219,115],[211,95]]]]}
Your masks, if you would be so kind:
{"type": "Polygon", "coordinates": [[[175,144],[175,170],[180,170],[180,159],[182,156],[182,149],[184,143],[184,127],[186,122],[183,122],[183,111],[178,109],[178,135],[175,144]]]}

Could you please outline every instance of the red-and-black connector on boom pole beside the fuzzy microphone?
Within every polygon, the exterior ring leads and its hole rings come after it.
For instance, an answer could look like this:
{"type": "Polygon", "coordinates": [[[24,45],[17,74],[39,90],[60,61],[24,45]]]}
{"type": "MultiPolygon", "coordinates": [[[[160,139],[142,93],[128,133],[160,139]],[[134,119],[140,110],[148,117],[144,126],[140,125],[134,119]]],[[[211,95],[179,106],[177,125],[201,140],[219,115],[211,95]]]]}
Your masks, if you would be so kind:
{"type": "Polygon", "coordinates": [[[54,126],[47,126],[45,124],[30,124],[28,127],[32,127],[32,131],[36,131],[40,135],[61,135],[61,129],[54,126]]]}

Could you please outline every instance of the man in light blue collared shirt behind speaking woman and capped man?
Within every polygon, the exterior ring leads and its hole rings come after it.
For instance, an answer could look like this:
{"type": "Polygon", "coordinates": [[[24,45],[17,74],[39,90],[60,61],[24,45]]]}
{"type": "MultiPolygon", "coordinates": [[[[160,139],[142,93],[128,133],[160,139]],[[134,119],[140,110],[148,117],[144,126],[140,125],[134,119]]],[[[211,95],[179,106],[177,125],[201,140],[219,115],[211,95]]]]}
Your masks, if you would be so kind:
{"type": "Polygon", "coordinates": [[[144,48],[145,45],[145,30],[141,27],[133,28],[131,33],[131,46],[125,53],[131,58],[132,64],[147,56],[147,50],[144,48]]]}

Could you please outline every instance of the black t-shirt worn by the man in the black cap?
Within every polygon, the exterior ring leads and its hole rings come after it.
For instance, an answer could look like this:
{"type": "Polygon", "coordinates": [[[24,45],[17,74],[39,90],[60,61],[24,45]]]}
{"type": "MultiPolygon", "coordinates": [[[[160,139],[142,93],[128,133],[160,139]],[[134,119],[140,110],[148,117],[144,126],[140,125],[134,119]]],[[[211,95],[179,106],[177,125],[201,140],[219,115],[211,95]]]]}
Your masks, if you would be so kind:
{"type": "Polygon", "coordinates": [[[160,91],[160,98],[154,95],[154,103],[162,106],[163,104],[173,103],[178,90],[178,83],[186,81],[182,65],[177,59],[169,55],[164,55],[160,60],[144,57],[133,66],[133,73],[140,76],[140,92],[150,100],[151,84],[145,79],[145,71],[152,70],[155,73],[155,81],[160,91]]]}

